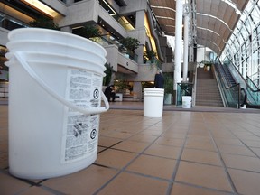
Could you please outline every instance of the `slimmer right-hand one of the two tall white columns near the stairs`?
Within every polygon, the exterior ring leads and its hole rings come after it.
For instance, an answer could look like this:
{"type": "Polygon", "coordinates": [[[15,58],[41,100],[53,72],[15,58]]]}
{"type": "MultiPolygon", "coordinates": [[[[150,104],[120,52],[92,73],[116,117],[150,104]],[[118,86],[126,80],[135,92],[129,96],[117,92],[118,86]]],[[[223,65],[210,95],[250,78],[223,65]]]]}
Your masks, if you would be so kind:
{"type": "Polygon", "coordinates": [[[189,47],[189,14],[184,14],[184,54],[183,54],[183,81],[186,82],[188,75],[188,48],[189,47]]]}

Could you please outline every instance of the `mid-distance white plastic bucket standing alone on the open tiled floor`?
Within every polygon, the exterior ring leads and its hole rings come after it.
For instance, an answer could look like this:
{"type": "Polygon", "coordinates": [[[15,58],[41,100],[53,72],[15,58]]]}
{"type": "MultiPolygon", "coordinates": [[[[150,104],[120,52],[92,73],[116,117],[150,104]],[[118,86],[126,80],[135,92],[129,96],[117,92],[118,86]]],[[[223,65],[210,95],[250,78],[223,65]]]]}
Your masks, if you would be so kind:
{"type": "Polygon", "coordinates": [[[163,88],[144,88],[144,116],[163,116],[163,88]]]}

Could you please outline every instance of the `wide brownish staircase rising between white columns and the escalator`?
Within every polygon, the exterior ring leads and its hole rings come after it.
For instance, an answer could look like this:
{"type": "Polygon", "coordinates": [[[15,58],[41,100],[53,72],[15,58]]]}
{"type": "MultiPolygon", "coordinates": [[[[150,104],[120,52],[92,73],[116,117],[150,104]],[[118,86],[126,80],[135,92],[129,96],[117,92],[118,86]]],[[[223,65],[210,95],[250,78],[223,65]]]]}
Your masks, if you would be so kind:
{"type": "Polygon", "coordinates": [[[223,107],[217,80],[211,70],[197,69],[196,106],[223,107]]]}

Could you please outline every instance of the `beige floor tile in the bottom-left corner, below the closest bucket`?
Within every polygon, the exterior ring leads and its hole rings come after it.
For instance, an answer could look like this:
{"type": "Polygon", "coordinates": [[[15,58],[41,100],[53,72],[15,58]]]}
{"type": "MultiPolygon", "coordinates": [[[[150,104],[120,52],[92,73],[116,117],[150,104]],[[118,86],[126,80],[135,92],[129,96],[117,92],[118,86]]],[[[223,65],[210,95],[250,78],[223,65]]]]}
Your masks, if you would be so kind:
{"type": "Polygon", "coordinates": [[[0,172],[0,193],[13,195],[30,188],[30,184],[0,172]]]}

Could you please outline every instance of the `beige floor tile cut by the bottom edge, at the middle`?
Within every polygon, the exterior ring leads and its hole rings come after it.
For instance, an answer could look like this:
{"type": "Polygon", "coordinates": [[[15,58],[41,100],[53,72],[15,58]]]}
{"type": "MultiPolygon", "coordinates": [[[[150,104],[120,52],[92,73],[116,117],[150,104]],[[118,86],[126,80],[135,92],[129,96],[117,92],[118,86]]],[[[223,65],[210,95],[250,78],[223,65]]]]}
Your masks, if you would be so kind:
{"type": "Polygon", "coordinates": [[[123,172],[111,181],[98,195],[161,195],[165,194],[168,182],[123,172]]]}

